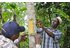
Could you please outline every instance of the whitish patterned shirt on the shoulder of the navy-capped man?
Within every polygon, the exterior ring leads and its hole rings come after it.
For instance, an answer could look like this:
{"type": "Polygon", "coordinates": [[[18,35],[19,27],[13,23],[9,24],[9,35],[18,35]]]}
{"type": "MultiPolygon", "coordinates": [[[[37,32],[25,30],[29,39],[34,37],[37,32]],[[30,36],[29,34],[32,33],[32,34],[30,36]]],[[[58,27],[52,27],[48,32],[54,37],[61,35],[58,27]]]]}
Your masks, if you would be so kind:
{"type": "Polygon", "coordinates": [[[0,48],[17,48],[12,40],[3,37],[0,41],[0,48]]]}

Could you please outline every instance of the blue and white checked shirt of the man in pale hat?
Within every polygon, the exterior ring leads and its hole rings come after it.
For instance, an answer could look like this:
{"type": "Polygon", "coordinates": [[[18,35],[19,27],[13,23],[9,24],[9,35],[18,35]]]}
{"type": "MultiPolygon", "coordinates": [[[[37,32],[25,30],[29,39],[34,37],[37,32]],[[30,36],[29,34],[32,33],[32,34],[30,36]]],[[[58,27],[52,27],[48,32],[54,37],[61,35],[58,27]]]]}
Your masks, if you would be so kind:
{"type": "Polygon", "coordinates": [[[59,48],[61,32],[59,30],[51,30],[51,28],[48,28],[48,30],[54,34],[54,38],[50,37],[45,31],[38,29],[38,32],[42,35],[42,48],[59,48]]]}

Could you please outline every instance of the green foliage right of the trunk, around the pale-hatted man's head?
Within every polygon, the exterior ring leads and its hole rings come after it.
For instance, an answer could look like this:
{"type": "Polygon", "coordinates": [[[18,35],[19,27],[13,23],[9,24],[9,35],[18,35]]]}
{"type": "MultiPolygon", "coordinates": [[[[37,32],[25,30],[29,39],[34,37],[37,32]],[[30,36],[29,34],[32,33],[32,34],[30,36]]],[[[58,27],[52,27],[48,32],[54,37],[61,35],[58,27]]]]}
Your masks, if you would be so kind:
{"type": "MultiPolygon", "coordinates": [[[[70,25],[70,3],[67,2],[36,2],[36,18],[40,19],[44,26],[50,27],[53,18],[60,16],[63,20],[62,24],[58,26],[58,29],[62,31],[62,38],[60,40],[60,46],[64,47],[64,37],[67,37],[66,26],[70,25]]],[[[69,30],[68,30],[69,31],[69,30]]],[[[70,35],[69,35],[70,36],[70,35]]]]}

